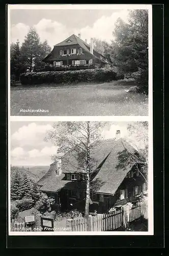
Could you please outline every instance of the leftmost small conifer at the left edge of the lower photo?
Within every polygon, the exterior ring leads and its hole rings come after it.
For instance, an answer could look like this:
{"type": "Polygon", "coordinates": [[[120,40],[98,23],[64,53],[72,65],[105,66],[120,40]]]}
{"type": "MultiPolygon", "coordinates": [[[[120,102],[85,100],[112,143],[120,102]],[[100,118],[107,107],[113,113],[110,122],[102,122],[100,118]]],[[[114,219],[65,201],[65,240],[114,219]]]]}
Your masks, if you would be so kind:
{"type": "Polygon", "coordinates": [[[11,178],[11,200],[20,200],[23,196],[22,178],[18,171],[16,171],[11,178]]]}

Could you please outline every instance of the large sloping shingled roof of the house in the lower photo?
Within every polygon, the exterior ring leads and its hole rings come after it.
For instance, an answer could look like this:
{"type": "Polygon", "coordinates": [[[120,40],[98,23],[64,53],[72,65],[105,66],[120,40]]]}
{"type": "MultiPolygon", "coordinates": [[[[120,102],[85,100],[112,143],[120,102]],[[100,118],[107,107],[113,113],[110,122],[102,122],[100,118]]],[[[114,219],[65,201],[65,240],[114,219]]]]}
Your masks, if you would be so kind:
{"type": "MultiPolygon", "coordinates": [[[[133,161],[131,160],[128,165],[125,165],[124,168],[118,168],[119,154],[124,150],[132,152],[133,154],[136,152],[124,139],[104,140],[98,146],[95,153],[93,153],[93,157],[95,157],[99,168],[98,171],[96,168],[96,176],[91,182],[92,191],[103,194],[115,194],[134,163],[140,163],[140,160],[136,157],[133,161]]],[[[74,190],[86,189],[86,183],[84,182],[65,180],[64,174],[57,176],[55,172],[56,167],[56,162],[52,163],[47,174],[38,181],[37,184],[42,186],[41,190],[54,192],[59,191],[63,187],[74,190]]],[[[65,167],[63,164],[62,168],[64,171],[65,167]]],[[[72,168],[69,170],[69,173],[73,173],[72,168]]]]}

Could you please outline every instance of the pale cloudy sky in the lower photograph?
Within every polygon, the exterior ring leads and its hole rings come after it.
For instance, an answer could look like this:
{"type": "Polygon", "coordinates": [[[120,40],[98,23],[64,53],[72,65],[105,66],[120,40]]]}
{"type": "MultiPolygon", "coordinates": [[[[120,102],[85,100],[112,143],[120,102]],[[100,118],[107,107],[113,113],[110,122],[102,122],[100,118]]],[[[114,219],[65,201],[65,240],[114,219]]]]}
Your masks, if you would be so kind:
{"type": "MultiPolygon", "coordinates": [[[[44,141],[45,134],[52,129],[53,122],[47,121],[12,121],[11,122],[11,164],[12,165],[50,165],[51,156],[57,147],[44,141]]],[[[104,139],[116,137],[120,130],[121,137],[128,139],[129,122],[109,122],[101,132],[104,139]]],[[[138,146],[138,144],[137,144],[138,146]]],[[[142,147],[142,145],[140,145],[142,147]]]]}

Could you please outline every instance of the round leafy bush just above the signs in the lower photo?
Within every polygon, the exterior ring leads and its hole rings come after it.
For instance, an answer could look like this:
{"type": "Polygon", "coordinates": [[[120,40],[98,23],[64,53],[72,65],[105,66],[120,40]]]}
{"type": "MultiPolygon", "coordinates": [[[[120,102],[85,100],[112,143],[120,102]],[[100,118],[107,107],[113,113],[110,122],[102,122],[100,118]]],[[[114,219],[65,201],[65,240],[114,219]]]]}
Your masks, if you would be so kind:
{"type": "Polygon", "coordinates": [[[54,203],[54,199],[48,197],[46,194],[41,193],[39,200],[36,202],[35,209],[44,213],[45,211],[51,211],[51,204],[54,203]]]}

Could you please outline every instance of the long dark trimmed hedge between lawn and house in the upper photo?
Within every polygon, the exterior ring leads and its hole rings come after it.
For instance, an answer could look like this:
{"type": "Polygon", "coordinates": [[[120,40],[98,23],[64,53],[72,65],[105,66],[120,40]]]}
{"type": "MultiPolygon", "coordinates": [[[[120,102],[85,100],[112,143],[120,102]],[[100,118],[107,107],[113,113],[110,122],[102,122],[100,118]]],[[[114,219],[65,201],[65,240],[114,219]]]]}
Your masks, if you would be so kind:
{"type": "Polygon", "coordinates": [[[118,75],[112,69],[31,72],[20,75],[20,81],[25,85],[42,83],[68,84],[74,82],[108,82],[118,79],[124,79],[124,75],[118,75]]]}

